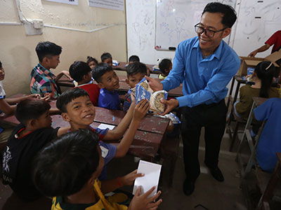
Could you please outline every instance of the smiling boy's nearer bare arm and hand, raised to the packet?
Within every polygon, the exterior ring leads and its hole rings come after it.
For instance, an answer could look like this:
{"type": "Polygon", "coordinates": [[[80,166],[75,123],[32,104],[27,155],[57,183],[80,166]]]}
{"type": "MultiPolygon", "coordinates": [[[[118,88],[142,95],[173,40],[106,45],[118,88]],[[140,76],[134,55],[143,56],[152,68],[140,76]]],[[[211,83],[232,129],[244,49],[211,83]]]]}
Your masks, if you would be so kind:
{"type": "Polygon", "coordinates": [[[138,125],[140,125],[141,120],[148,112],[149,108],[150,108],[149,102],[146,99],[145,100],[143,99],[140,103],[138,103],[138,105],[135,108],[135,111],[133,112],[133,119],[131,120],[129,129],[127,130],[123,139],[120,141],[120,143],[117,146],[115,158],[124,157],[126,153],[129,151],[129,148],[133,141],[133,137],[135,136],[136,130],[138,129],[138,125]]]}

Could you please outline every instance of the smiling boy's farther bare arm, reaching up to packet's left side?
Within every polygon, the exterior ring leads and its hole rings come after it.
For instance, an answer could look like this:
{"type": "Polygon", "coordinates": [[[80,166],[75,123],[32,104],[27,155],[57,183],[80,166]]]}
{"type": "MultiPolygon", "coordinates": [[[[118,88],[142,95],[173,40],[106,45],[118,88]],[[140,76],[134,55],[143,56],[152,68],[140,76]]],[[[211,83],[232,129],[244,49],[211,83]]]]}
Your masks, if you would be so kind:
{"type": "Polygon", "coordinates": [[[130,125],[131,119],[133,117],[133,110],[135,109],[136,104],[132,103],[129,110],[127,111],[124,118],[121,120],[119,125],[115,127],[114,130],[109,130],[105,137],[103,137],[103,141],[107,140],[117,140],[120,139],[124,132],[127,130],[128,126],[130,125]]]}

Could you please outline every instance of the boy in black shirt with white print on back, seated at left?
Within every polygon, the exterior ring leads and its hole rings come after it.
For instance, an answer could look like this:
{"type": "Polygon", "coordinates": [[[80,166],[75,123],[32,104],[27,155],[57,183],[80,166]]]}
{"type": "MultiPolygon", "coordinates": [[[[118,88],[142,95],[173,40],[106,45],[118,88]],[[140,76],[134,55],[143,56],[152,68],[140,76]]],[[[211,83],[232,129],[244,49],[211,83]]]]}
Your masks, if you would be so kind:
{"type": "Polygon", "coordinates": [[[4,151],[3,181],[22,200],[32,201],[41,197],[32,183],[34,156],[46,143],[69,129],[51,127],[50,108],[44,100],[28,98],[20,102],[15,110],[20,125],[13,130],[4,151]]]}

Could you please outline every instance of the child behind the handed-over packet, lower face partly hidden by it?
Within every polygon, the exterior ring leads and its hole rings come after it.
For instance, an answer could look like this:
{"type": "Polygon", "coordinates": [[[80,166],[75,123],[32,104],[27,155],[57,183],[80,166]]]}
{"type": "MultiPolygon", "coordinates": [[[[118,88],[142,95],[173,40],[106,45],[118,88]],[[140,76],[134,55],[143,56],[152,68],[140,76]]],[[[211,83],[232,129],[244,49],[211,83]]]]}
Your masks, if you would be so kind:
{"type": "MultiPolygon", "coordinates": [[[[126,83],[130,85],[130,88],[136,87],[136,84],[138,84],[147,73],[145,64],[141,62],[133,62],[129,64],[126,66],[126,72],[126,83]]],[[[124,111],[127,111],[131,106],[131,92],[132,90],[130,89],[125,95],[123,104],[124,111]]]]}

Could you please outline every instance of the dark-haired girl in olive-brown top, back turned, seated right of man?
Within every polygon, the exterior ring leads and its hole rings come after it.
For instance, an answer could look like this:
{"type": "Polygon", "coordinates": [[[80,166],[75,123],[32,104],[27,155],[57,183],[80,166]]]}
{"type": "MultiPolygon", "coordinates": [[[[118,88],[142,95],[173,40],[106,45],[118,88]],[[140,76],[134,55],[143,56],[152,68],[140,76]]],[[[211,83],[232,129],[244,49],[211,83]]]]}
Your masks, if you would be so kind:
{"type": "Polygon", "coordinates": [[[252,97],[272,98],[279,94],[275,87],[271,87],[275,66],[270,62],[260,62],[256,65],[253,73],[254,85],[244,85],[240,88],[240,99],[235,102],[235,114],[248,119],[253,104],[252,97]]]}

